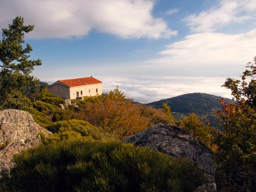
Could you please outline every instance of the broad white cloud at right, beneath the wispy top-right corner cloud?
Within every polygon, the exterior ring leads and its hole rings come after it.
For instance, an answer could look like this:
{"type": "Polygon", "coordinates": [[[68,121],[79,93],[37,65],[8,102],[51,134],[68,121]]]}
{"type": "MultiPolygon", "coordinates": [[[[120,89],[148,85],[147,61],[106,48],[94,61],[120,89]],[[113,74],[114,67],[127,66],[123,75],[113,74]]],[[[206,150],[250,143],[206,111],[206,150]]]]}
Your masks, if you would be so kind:
{"type": "MultiPolygon", "coordinates": [[[[251,61],[256,52],[256,29],[236,35],[197,33],[170,44],[160,52],[159,59],[146,63],[182,66],[242,65],[251,61]]],[[[220,70],[222,70],[220,68],[220,70]]]]}

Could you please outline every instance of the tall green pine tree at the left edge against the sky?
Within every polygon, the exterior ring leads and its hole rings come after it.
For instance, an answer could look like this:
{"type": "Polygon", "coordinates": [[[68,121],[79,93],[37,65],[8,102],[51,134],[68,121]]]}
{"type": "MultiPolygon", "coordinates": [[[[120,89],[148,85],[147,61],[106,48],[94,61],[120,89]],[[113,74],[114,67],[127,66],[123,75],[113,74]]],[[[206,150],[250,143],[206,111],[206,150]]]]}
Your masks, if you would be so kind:
{"type": "Polygon", "coordinates": [[[0,42],[0,105],[8,98],[17,98],[17,92],[24,94],[25,88],[34,91],[39,80],[30,76],[34,66],[42,65],[40,59],[29,60],[32,47],[26,44],[24,34],[33,30],[34,25],[24,25],[22,17],[16,17],[9,27],[2,30],[0,42]]]}

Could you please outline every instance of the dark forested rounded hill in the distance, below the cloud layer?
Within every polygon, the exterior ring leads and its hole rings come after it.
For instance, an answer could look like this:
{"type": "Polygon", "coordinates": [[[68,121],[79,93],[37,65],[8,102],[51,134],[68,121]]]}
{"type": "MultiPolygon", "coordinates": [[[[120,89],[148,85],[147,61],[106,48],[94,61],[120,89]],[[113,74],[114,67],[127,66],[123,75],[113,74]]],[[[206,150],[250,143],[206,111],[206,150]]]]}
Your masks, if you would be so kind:
{"type": "MultiPolygon", "coordinates": [[[[212,115],[213,109],[220,109],[221,105],[217,101],[219,96],[214,96],[206,93],[190,93],[184,94],[168,99],[163,99],[148,103],[147,105],[154,108],[162,108],[162,103],[168,103],[172,112],[176,116],[176,120],[184,118],[190,113],[195,113],[203,119],[209,119],[213,125],[217,126],[215,122],[215,116],[212,115]],[[181,116],[183,114],[183,116],[181,116]]],[[[234,102],[231,99],[226,98],[228,102],[234,102]]]]}

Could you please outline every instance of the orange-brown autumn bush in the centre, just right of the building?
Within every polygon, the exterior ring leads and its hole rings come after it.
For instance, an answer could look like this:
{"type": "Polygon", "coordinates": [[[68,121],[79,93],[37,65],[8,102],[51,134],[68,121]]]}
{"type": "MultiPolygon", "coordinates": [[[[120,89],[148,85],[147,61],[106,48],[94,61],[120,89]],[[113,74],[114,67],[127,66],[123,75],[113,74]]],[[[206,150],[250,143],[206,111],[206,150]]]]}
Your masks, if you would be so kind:
{"type": "Polygon", "coordinates": [[[69,110],[69,117],[90,122],[118,138],[126,138],[158,123],[175,124],[172,114],[163,109],[134,104],[124,98],[117,87],[104,96],[89,98],[79,110],[69,110]]]}

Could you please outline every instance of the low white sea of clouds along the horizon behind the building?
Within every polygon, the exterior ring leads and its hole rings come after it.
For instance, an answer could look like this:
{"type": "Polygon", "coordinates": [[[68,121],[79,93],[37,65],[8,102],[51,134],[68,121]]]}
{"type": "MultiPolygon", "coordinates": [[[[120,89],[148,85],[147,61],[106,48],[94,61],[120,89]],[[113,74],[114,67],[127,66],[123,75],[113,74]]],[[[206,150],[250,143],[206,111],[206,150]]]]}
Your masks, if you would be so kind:
{"type": "MultiPolygon", "coordinates": [[[[225,98],[232,98],[230,90],[221,87],[225,78],[221,77],[184,77],[184,76],[140,76],[109,77],[99,76],[103,82],[102,92],[107,93],[118,86],[127,98],[140,103],[149,103],[187,93],[208,93],[225,98]]],[[[49,84],[54,81],[48,81],[49,84]]]]}

